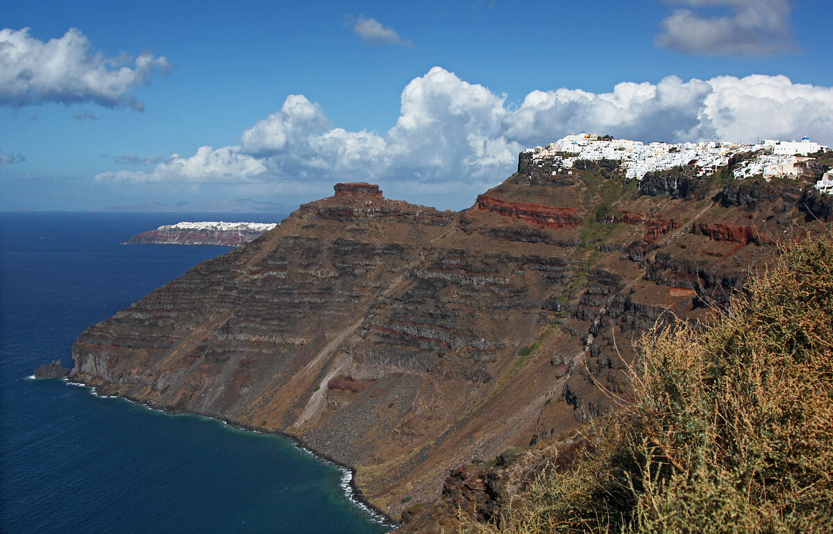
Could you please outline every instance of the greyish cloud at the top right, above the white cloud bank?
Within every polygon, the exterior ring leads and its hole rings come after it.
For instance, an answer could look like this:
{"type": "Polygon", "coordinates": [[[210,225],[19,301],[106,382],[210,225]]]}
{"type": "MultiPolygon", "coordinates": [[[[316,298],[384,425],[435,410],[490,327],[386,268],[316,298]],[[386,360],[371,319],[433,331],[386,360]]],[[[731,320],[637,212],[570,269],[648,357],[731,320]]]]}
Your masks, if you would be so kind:
{"type": "Polygon", "coordinates": [[[731,14],[704,17],[675,9],[660,22],[654,43],[689,54],[766,56],[797,49],[787,0],[671,0],[694,8],[725,7],[731,14]]]}

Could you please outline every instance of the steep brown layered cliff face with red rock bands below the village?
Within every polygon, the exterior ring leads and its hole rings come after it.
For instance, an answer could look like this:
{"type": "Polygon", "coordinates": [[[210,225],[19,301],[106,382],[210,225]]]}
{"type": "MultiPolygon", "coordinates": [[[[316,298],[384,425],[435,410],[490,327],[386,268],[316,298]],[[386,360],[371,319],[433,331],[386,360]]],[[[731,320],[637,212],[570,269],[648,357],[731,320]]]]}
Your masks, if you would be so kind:
{"type": "Polygon", "coordinates": [[[601,171],[521,165],[460,213],[337,185],[87,329],[73,377],[297,436],[398,517],[450,469],[608,412],[631,339],[665,312],[705,317],[766,256],[756,236],[805,216],[601,171]]]}

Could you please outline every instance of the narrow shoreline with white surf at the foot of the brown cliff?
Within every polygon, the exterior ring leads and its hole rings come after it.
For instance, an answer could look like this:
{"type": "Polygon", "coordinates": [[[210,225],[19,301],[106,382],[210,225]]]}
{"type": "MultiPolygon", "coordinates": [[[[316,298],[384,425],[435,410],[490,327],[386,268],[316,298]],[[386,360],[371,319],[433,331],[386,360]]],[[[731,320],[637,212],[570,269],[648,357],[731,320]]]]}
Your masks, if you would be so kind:
{"type": "MultiPolygon", "coordinates": [[[[33,377],[34,375],[32,375],[32,379],[35,379],[33,377]]],[[[236,428],[238,430],[258,434],[275,434],[277,436],[280,436],[281,438],[285,438],[290,443],[292,443],[293,447],[296,447],[298,450],[305,452],[312,457],[315,457],[320,462],[323,462],[327,465],[331,465],[332,467],[336,467],[340,472],[342,472],[342,480],[339,486],[342,488],[344,496],[347,497],[347,500],[351,502],[353,506],[358,507],[363,512],[367,513],[367,515],[372,518],[372,521],[377,522],[378,524],[383,525],[385,527],[390,527],[391,531],[388,532],[392,532],[392,530],[399,527],[399,522],[395,521],[385,512],[382,512],[382,510],[380,510],[379,508],[373,506],[372,503],[369,502],[366,497],[364,497],[362,490],[356,485],[355,467],[345,465],[341,462],[338,462],[336,459],[330,457],[324,452],[319,452],[313,449],[312,447],[308,447],[307,444],[303,442],[302,438],[293,436],[292,434],[281,432],[279,430],[264,430],[263,428],[256,428],[252,425],[240,423],[238,421],[234,421],[232,419],[224,418],[218,415],[207,415],[205,413],[193,412],[190,410],[177,411],[167,408],[157,408],[149,403],[125,397],[123,395],[100,395],[96,390],[96,386],[84,383],[81,380],[77,380],[72,376],[61,378],[61,380],[63,383],[67,383],[72,386],[76,386],[79,388],[88,388],[90,390],[90,393],[98,398],[122,398],[129,403],[137,404],[138,406],[143,406],[147,409],[155,410],[157,412],[162,412],[166,415],[197,415],[202,418],[209,418],[214,419],[215,421],[220,421],[225,426],[236,428]],[[345,480],[346,477],[349,477],[347,481],[345,480]]]]}

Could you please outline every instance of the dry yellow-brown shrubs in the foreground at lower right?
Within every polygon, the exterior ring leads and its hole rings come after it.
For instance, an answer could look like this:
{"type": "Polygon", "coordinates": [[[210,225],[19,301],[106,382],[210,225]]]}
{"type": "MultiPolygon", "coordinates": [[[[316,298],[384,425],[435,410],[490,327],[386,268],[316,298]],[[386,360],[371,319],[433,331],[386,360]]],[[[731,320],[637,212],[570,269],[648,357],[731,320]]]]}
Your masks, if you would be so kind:
{"type": "Polygon", "coordinates": [[[792,240],[707,328],[641,340],[568,472],[462,532],[833,532],[833,240],[792,240]]]}

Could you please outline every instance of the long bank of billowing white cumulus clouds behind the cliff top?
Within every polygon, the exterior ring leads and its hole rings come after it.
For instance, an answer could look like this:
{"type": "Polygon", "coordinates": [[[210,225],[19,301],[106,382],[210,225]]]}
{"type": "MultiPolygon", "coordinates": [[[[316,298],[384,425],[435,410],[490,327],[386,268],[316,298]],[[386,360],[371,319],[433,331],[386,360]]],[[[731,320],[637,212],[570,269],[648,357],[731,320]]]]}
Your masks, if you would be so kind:
{"type": "MultiPolygon", "coordinates": [[[[577,131],[640,141],[755,141],[810,136],[833,144],[833,87],[784,76],[622,82],[607,93],[506,95],[433,67],[402,91],[384,135],[332,126],[321,106],[290,95],[279,111],[242,132],[239,145],[174,154],[152,171],[107,171],[99,182],[261,186],[318,192],[335,181],[370,180],[403,192],[471,195],[510,176],[517,152],[577,131]]],[[[473,198],[473,196],[472,196],[473,198]]]]}

